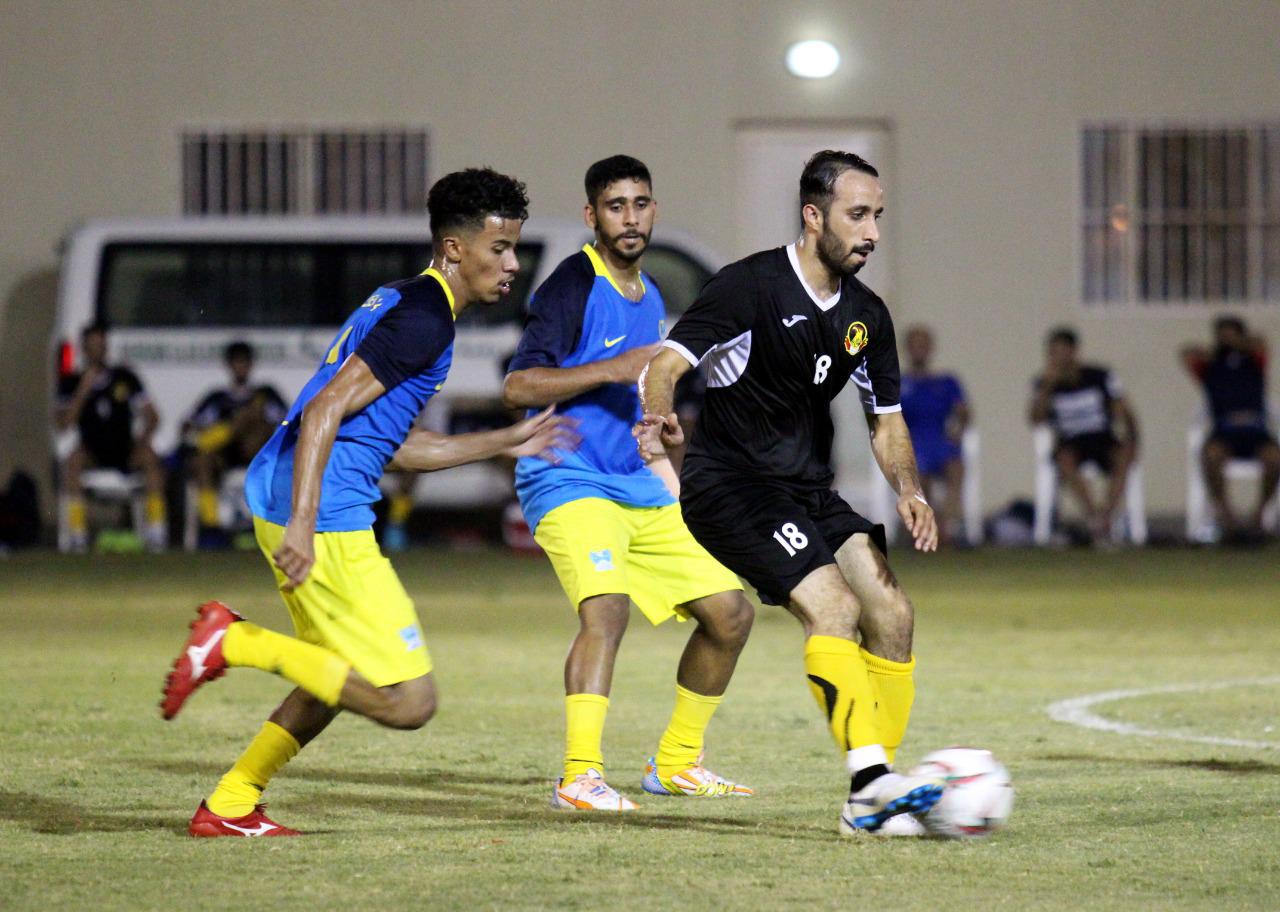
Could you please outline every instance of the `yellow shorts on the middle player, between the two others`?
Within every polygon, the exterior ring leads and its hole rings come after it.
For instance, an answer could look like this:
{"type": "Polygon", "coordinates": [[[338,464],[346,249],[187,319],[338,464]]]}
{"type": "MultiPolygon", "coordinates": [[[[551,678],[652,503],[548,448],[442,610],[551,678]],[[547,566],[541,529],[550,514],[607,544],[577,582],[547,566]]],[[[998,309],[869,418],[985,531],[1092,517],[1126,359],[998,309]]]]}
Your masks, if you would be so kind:
{"type": "Polygon", "coordinates": [[[742,588],[694,539],[678,503],[632,507],[584,497],[547,514],[534,538],[575,608],[616,592],[631,596],[652,624],[662,624],[672,615],[687,619],[686,602],[742,588]]]}

